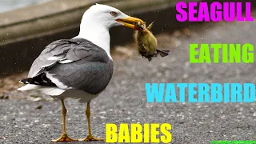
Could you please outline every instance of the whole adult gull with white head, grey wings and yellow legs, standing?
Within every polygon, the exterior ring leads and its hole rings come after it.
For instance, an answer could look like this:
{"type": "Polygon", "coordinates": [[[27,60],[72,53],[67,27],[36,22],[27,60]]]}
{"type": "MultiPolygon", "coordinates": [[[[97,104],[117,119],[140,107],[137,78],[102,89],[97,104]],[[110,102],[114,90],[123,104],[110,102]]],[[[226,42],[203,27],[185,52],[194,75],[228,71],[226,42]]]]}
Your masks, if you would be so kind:
{"type": "Polygon", "coordinates": [[[114,7],[95,4],[83,14],[78,36],[50,43],[34,60],[28,77],[20,81],[26,85],[18,90],[40,90],[62,102],[62,135],[52,142],[77,141],[66,134],[66,98],[87,103],[88,134],[78,140],[103,140],[91,134],[90,102],[106,89],[113,75],[109,30],[114,26],[136,30],[136,22],[145,23],[114,7]]]}

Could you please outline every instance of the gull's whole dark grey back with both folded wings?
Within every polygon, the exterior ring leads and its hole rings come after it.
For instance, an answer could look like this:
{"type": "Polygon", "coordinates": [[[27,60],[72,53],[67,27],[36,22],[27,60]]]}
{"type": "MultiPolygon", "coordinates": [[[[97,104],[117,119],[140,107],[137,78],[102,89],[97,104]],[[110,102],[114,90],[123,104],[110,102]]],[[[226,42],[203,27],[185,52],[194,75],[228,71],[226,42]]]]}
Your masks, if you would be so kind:
{"type": "Polygon", "coordinates": [[[61,84],[66,89],[98,94],[106,88],[112,74],[113,63],[105,50],[85,39],[75,38],[46,46],[31,66],[28,77],[39,84],[47,81],[42,78],[49,78],[58,87],[61,84]],[[44,74],[46,77],[42,77],[44,74]]]}

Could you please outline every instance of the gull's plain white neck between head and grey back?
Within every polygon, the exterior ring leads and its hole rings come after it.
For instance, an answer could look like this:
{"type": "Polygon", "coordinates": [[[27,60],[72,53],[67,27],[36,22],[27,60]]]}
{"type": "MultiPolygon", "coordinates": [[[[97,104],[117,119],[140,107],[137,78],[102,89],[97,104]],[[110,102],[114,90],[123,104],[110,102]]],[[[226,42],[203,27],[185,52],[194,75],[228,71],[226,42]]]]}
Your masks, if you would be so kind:
{"type": "Polygon", "coordinates": [[[106,51],[106,54],[112,60],[110,55],[110,32],[106,26],[97,24],[95,22],[90,22],[90,20],[82,20],[80,26],[80,32],[75,38],[84,38],[90,42],[93,42],[95,45],[100,46],[106,51]]]}

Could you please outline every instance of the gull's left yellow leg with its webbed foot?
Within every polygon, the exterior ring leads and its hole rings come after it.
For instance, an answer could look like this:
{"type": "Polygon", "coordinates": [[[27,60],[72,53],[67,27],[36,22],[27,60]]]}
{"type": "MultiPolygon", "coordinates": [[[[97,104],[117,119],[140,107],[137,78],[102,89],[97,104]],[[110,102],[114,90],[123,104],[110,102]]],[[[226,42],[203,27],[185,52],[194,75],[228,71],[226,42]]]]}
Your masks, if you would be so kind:
{"type": "Polygon", "coordinates": [[[75,139],[70,138],[66,134],[66,107],[64,104],[64,99],[62,99],[62,135],[55,140],[52,140],[52,142],[71,142],[71,141],[77,141],[75,139]]]}

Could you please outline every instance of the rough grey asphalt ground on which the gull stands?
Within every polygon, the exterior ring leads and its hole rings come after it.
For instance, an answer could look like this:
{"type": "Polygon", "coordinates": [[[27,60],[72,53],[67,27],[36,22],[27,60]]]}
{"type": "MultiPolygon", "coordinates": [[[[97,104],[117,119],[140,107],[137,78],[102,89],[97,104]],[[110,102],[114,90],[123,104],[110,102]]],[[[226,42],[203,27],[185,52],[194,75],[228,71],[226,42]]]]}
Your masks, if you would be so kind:
{"type": "MultiPolygon", "coordinates": [[[[92,132],[105,137],[106,123],[168,122],[173,143],[209,143],[212,140],[255,140],[255,103],[153,103],[146,102],[146,82],[256,82],[254,64],[190,64],[190,43],[246,43],[256,46],[255,22],[207,24],[191,28],[187,36],[160,46],[173,47],[166,58],[152,62],[138,56],[115,61],[114,78],[91,103],[92,132]]],[[[86,136],[84,104],[66,101],[67,133],[86,136]]],[[[0,101],[0,143],[50,143],[61,134],[61,103],[58,101],[0,101]],[[42,106],[38,110],[36,107],[42,106]]],[[[103,142],[70,142],[103,143],[103,142]]]]}

